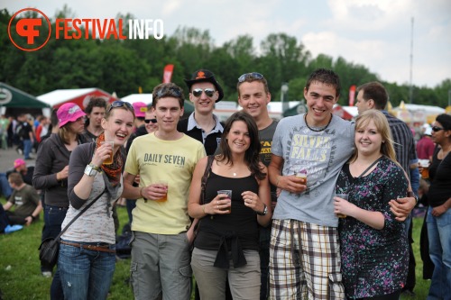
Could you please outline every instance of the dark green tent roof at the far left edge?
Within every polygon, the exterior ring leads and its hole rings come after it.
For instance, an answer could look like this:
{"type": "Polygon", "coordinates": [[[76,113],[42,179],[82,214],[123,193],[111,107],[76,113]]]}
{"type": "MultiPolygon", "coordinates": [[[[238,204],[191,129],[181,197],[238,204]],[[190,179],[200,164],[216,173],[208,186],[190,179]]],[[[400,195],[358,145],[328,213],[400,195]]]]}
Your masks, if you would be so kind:
{"type": "Polygon", "coordinates": [[[0,106],[11,108],[45,108],[51,107],[34,95],[30,95],[13,86],[0,82],[0,106]]]}

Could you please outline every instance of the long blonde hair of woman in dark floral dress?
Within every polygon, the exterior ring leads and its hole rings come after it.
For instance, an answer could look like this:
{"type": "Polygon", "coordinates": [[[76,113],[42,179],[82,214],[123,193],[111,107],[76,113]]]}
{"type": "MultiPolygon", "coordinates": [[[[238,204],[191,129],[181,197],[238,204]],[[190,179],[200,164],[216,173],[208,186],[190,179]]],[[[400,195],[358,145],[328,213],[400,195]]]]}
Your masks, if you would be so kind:
{"type": "MultiPolygon", "coordinates": [[[[391,137],[390,125],[387,121],[387,118],[384,114],[376,109],[370,109],[365,111],[363,114],[359,114],[357,119],[355,119],[355,132],[358,130],[364,129],[368,126],[368,123],[373,121],[376,126],[377,132],[381,133],[382,136],[382,145],[381,145],[381,154],[385,155],[389,159],[396,161],[396,152],[393,147],[393,139],[391,137]]],[[[358,151],[355,150],[350,162],[354,162],[358,157],[358,151]]]]}

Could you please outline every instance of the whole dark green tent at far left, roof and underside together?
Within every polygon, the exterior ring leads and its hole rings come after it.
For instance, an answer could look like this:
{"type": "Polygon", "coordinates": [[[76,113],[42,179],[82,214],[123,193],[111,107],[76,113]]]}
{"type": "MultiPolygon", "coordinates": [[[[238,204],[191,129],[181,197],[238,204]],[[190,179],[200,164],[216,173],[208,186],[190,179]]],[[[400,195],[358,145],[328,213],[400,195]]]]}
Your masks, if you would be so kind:
{"type": "Polygon", "coordinates": [[[1,114],[12,112],[41,114],[41,109],[49,105],[38,100],[34,95],[0,82],[0,107],[1,114]]]}

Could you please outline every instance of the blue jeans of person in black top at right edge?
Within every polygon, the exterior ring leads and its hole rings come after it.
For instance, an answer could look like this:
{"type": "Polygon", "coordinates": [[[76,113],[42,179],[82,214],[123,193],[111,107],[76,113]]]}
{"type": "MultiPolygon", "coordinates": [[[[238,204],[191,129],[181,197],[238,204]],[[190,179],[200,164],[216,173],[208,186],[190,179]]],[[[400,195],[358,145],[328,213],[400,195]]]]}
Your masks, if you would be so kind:
{"type": "Polygon", "coordinates": [[[451,299],[451,209],[435,217],[428,208],[429,256],[434,263],[428,300],[451,299]]]}

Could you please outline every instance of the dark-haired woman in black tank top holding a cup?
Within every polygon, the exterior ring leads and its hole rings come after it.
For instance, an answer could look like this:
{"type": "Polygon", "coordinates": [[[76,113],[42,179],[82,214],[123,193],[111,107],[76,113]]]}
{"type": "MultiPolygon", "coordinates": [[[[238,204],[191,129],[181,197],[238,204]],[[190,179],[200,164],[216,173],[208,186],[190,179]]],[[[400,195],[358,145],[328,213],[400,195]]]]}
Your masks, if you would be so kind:
{"type": "MultiPolygon", "coordinates": [[[[234,299],[260,299],[258,227],[272,213],[267,168],[259,159],[261,144],[251,115],[233,114],[213,159],[200,203],[201,178],[208,157],[199,160],[189,191],[189,215],[199,219],[191,267],[201,299],[225,299],[226,277],[234,299]],[[231,199],[219,190],[231,190],[231,199]]],[[[195,221],[196,222],[196,221],[195,221]]]]}

